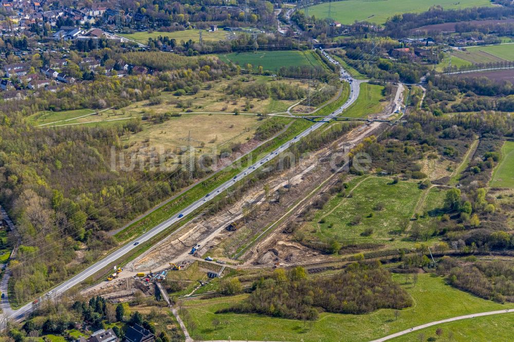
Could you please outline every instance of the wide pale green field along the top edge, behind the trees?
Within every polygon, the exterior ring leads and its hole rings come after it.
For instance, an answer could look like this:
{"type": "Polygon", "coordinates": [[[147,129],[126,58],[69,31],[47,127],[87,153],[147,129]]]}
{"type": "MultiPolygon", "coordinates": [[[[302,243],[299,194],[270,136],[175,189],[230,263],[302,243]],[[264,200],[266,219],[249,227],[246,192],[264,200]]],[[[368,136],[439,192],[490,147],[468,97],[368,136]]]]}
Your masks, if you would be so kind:
{"type": "MultiPolygon", "coordinates": [[[[383,24],[398,13],[424,12],[431,6],[439,5],[445,9],[490,6],[489,0],[346,0],[332,3],[332,18],[342,24],[352,24],[355,21],[369,21],[383,24]]],[[[317,18],[327,17],[328,3],[309,8],[309,15],[317,18]]]]}

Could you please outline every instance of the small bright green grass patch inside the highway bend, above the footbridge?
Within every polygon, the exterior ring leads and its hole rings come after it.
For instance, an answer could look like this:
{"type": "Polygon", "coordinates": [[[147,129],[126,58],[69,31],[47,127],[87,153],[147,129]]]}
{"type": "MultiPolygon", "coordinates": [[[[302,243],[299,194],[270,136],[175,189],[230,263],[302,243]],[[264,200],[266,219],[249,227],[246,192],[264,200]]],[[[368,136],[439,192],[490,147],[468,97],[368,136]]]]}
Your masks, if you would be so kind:
{"type": "Polygon", "coordinates": [[[343,111],[342,117],[365,118],[382,110],[383,86],[376,84],[361,83],[359,98],[348,109],[343,111]]]}

